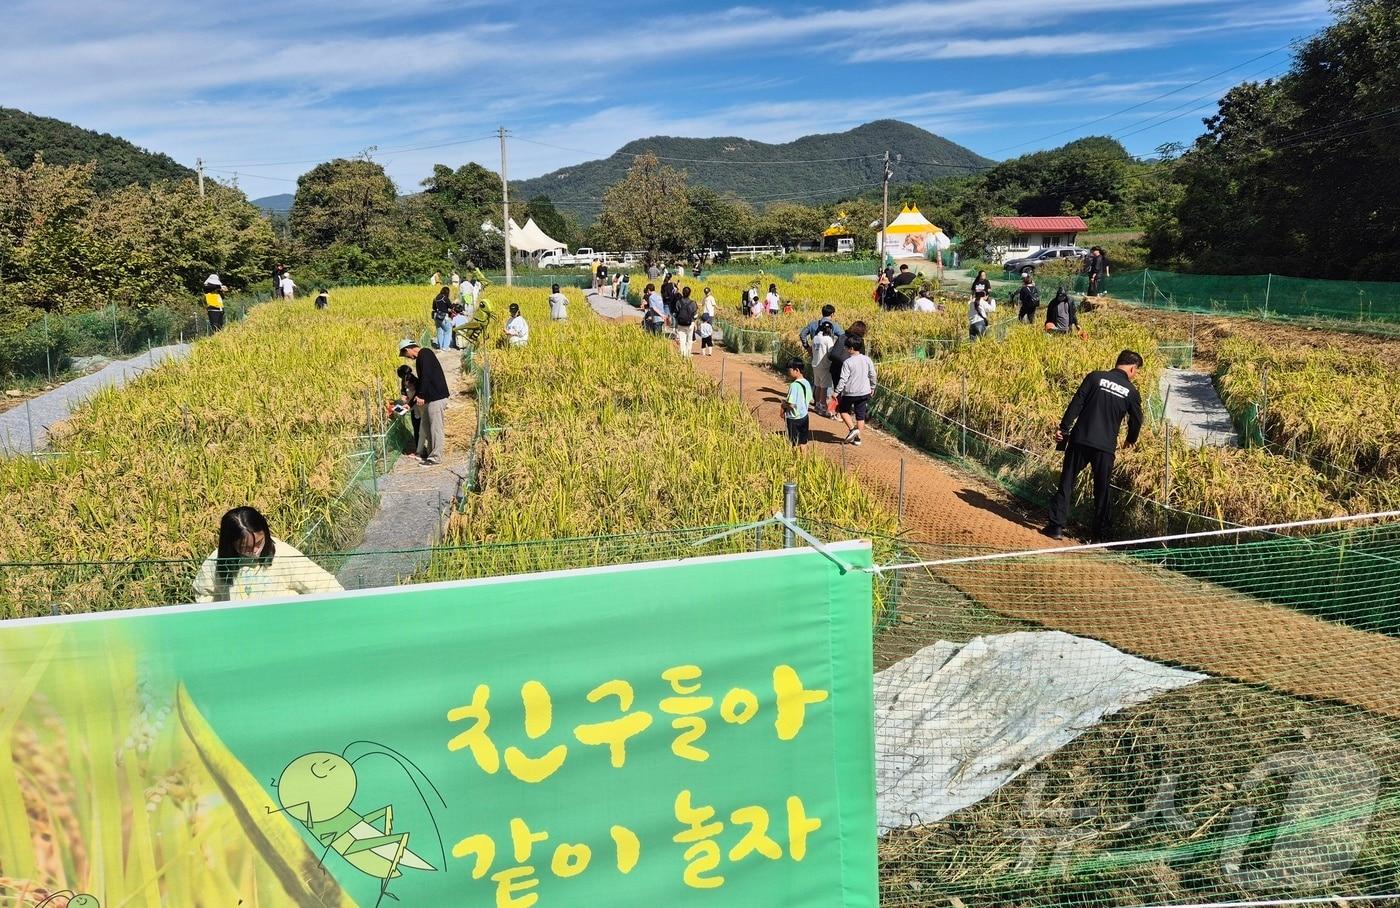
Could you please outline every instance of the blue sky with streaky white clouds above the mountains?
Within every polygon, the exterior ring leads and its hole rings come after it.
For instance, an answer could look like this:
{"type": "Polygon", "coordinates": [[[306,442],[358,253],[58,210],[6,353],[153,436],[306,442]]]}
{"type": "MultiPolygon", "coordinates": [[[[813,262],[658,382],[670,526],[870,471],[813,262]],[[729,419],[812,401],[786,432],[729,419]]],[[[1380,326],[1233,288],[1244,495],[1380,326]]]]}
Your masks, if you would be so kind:
{"type": "Polygon", "coordinates": [[[879,118],[993,158],[1084,134],[1148,154],[1329,20],[1326,0],[4,0],[0,105],[203,157],[253,197],[371,146],[400,190],[435,162],[494,169],[497,126],[512,179],[643,136],[879,118]]]}

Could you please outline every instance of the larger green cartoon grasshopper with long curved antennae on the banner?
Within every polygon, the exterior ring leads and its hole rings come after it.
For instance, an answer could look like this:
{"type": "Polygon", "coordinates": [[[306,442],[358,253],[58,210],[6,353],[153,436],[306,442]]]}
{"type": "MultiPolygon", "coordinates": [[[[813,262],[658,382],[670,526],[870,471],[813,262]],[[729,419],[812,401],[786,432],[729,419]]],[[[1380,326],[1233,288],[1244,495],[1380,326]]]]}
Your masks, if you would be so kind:
{"type": "MultiPolygon", "coordinates": [[[[286,811],[305,825],[311,835],[326,846],[321,853],[322,867],[326,855],[335,851],[360,873],[377,877],[379,898],[374,904],[378,907],[385,895],[398,901],[398,895],[389,891],[389,880],[403,876],[403,867],[412,870],[437,870],[437,867],[409,851],[409,832],[393,831],[393,804],[367,814],[360,814],[350,806],[358,788],[354,764],[372,756],[389,757],[403,768],[431,818],[433,809],[419,781],[421,779],[440,802],[442,795],[407,757],[374,742],[353,742],[339,754],[311,753],[288,762],[281,776],[273,782],[281,807],[273,810],[269,806],[267,813],[286,811]],[[357,744],[370,746],[372,750],[349,760],[346,754],[357,744]],[[375,825],[379,823],[384,828],[375,825]]],[[[442,802],[442,806],[445,807],[447,802],[442,802]]],[[[435,818],[433,831],[438,838],[438,855],[445,866],[447,853],[442,849],[442,837],[437,832],[435,818]]]]}

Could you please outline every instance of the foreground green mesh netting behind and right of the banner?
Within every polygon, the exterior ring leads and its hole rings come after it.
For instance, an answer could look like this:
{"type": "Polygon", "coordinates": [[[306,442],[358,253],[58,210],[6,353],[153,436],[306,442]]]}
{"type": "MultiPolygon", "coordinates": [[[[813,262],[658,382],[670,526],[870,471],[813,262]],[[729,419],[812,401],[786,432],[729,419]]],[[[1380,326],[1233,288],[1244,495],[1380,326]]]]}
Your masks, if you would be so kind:
{"type": "MultiPolygon", "coordinates": [[[[1371,905],[1394,891],[1400,641],[1368,630],[1400,600],[1400,526],[994,560],[875,541],[893,553],[872,631],[882,905],[1371,905]],[[1278,586],[1306,613],[1271,604],[1278,586]],[[1039,646],[1054,656],[1026,655],[1039,646]],[[1197,674],[1152,686],[1148,667],[1197,674]]],[[[771,525],[676,527],[314,561],[386,560],[426,582],[784,544],[771,525]]],[[[7,564],[0,589],[43,603],[144,572],[188,590],[196,568],[7,564]]]]}

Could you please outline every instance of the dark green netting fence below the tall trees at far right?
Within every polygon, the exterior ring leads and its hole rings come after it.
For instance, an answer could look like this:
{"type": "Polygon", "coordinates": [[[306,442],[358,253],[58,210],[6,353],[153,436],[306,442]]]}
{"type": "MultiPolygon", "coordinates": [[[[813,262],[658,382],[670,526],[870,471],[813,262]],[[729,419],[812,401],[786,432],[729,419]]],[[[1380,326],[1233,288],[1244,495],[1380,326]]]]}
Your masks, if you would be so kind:
{"type": "MultiPolygon", "coordinates": [[[[1075,291],[1088,290],[1079,276],[1075,291]]],[[[1400,330],[1400,284],[1327,281],[1282,274],[1176,274],[1114,271],[1103,285],[1109,295],[1144,306],[1208,315],[1271,319],[1357,322],[1400,330]]]]}

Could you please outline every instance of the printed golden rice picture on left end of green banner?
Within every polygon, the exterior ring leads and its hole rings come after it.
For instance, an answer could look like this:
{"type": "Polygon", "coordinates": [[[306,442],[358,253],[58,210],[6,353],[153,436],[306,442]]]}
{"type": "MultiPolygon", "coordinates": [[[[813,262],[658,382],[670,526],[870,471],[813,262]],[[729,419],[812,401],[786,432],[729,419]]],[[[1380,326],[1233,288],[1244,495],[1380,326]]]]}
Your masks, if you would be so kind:
{"type": "Polygon", "coordinates": [[[228,772],[127,646],[73,670],[63,628],[48,630],[0,652],[0,905],[63,891],[132,908],[353,904],[307,873],[316,858],[283,816],[252,817],[258,845],[239,828],[228,772]]]}

